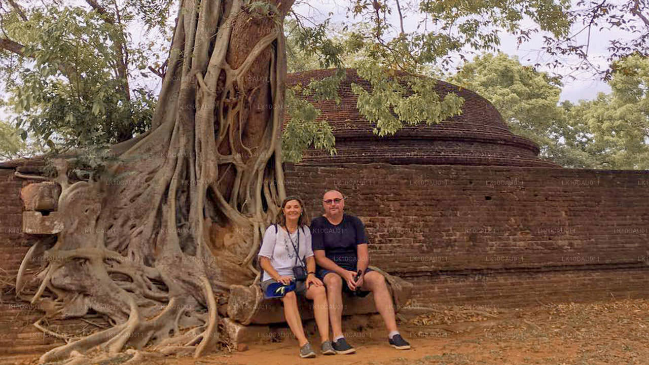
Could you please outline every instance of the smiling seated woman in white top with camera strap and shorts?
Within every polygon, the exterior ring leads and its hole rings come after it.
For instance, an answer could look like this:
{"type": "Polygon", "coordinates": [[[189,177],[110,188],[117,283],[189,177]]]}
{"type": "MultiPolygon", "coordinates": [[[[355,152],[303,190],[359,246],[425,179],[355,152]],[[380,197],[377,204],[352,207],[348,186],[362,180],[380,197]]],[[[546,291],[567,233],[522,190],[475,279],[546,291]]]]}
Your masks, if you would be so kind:
{"type": "Polygon", "coordinates": [[[259,258],[263,270],[261,283],[263,292],[266,292],[271,284],[281,283],[288,286],[295,283],[295,290],[286,292],[282,302],[284,317],[300,345],[300,357],[315,357],[315,352],[304,335],[296,294],[306,296],[313,301],[315,323],[320,332],[323,355],[336,354],[329,340],[326,290],[323,282],[315,277],[311,232],[301,199],[298,197],[284,199],[282,209],[277,216],[277,223],[268,227],[263,234],[259,258]],[[296,281],[293,268],[304,266],[304,261],[306,261],[306,280],[296,281]]]}

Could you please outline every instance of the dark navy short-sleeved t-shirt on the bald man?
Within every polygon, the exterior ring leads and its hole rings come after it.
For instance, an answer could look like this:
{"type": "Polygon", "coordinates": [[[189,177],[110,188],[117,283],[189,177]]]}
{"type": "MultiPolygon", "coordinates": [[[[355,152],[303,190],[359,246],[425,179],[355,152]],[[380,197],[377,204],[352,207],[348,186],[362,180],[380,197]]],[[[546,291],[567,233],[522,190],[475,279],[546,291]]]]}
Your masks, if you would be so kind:
{"type": "Polygon", "coordinates": [[[356,246],[367,244],[365,225],[355,216],[343,213],[339,224],[320,216],[311,222],[313,251],[323,249],[324,255],[341,268],[356,270],[356,246]]]}

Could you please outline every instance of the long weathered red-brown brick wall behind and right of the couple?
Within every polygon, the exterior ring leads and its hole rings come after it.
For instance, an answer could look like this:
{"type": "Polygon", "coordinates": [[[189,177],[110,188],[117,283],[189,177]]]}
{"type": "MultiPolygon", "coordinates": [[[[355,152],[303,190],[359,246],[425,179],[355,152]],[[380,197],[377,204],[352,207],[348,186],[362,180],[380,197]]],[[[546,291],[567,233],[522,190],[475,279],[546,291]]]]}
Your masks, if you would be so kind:
{"type": "Polygon", "coordinates": [[[649,297],[649,171],[295,165],[311,216],[336,188],[371,262],[421,303],[497,307],[649,297]]]}

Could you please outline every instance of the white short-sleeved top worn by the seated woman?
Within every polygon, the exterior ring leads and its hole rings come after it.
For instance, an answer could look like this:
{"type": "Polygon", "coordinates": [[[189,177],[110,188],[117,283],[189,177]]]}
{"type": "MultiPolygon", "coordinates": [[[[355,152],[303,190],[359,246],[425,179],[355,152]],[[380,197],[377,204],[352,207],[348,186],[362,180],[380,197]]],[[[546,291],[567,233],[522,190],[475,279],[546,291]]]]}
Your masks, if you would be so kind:
{"type": "MultiPolygon", "coordinates": [[[[259,256],[270,258],[271,266],[282,276],[293,277],[293,266],[300,264],[295,256],[293,245],[298,247],[298,236],[300,237],[299,257],[302,258],[306,266],[306,258],[313,256],[311,247],[311,231],[308,226],[303,225],[295,233],[291,234],[289,239],[288,232],[284,231],[279,225],[270,225],[263,234],[262,248],[259,250],[259,256]],[[275,233],[277,227],[277,233],[275,233]],[[299,233],[299,234],[298,234],[299,233]],[[293,240],[293,245],[291,245],[293,240]]],[[[266,271],[263,271],[262,281],[273,279],[266,271]]]]}

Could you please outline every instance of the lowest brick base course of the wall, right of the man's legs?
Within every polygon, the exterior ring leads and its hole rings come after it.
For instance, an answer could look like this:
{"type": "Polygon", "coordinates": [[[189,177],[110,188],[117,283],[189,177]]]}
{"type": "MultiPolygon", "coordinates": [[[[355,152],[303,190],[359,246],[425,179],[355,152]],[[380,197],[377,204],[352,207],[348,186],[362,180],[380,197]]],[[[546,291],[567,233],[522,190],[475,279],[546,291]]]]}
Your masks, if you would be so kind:
{"type": "Polygon", "coordinates": [[[536,307],[548,303],[646,298],[648,269],[543,268],[430,273],[408,280],[415,285],[413,299],[428,305],[475,307],[536,307]]]}

